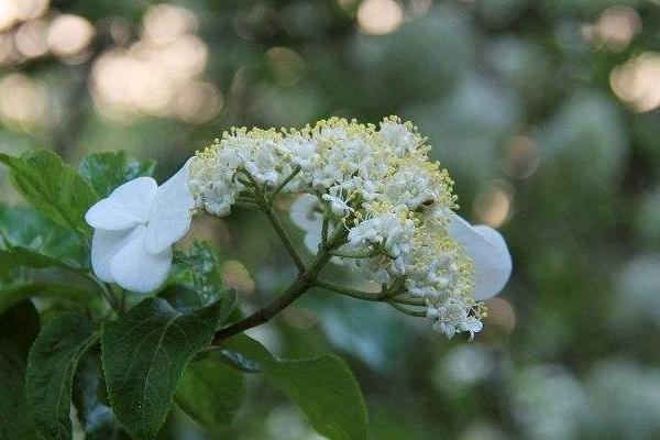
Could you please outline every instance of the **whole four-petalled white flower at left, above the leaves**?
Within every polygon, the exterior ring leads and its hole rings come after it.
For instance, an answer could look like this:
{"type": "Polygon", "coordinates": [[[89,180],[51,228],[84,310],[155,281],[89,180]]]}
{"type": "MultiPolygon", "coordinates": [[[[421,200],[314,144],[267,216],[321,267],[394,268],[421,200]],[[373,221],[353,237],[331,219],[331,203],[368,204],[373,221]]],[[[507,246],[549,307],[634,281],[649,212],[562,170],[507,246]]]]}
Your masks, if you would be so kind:
{"type": "Polygon", "coordinates": [[[138,177],[89,208],[85,220],[95,228],[91,265],[99,279],[139,293],[165,282],[172,245],[190,229],[189,162],[161,186],[138,177]]]}

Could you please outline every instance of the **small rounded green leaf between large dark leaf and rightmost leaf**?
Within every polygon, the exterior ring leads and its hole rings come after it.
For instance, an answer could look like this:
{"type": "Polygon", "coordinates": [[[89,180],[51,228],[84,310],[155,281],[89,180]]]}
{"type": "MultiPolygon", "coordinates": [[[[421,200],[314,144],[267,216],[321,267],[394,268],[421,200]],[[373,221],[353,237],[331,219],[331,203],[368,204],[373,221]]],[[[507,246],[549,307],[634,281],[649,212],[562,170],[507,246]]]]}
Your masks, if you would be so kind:
{"type": "Polygon", "coordinates": [[[243,374],[211,354],[188,364],[176,389],[176,403],[204,427],[219,429],[231,425],[244,394],[243,374]]]}

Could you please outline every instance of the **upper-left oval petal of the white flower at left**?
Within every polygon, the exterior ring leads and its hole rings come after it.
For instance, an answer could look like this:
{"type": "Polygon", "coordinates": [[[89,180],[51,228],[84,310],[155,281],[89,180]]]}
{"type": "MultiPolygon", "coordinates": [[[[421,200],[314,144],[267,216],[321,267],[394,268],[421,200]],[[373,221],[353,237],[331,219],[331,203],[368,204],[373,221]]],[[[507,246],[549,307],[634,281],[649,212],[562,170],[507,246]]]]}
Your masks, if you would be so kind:
{"type": "Polygon", "coordinates": [[[120,231],[143,223],[148,219],[157,187],[156,180],[151,177],[127,182],[89,208],[85,220],[92,228],[107,231],[120,231]]]}

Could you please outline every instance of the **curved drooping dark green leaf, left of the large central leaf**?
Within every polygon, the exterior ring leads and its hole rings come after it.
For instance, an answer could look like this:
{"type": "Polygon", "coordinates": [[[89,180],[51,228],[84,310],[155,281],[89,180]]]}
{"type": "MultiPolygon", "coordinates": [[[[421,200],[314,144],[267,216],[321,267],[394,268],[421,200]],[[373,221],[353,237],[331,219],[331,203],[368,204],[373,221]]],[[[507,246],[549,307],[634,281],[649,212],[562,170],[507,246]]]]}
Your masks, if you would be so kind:
{"type": "Polygon", "coordinates": [[[25,397],[36,428],[47,439],[72,438],[72,385],[78,361],[99,338],[87,318],[67,312],[41,331],[28,359],[25,397]]]}

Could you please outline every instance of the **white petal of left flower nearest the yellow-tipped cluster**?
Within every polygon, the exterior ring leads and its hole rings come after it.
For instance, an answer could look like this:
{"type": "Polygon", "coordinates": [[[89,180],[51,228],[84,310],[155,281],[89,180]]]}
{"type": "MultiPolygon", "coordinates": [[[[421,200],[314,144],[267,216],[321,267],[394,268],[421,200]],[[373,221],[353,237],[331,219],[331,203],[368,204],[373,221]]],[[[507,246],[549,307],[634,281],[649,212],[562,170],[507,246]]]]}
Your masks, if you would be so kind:
{"type": "Polygon", "coordinates": [[[190,160],[158,187],[150,212],[145,246],[157,254],[184,238],[190,229],[195,199],[188,186],[190,160]]]}

